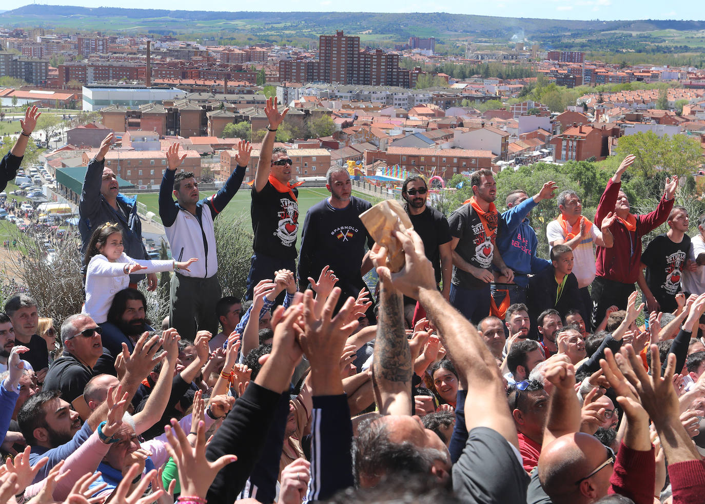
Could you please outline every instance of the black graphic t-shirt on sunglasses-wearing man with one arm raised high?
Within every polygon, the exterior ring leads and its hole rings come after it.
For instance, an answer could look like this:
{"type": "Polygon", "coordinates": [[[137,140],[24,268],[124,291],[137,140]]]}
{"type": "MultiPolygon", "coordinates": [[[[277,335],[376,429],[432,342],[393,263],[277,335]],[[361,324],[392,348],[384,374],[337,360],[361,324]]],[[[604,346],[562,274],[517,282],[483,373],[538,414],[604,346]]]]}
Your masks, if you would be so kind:
{"type": "MultiPolygon", "coordinates": [[[[298,196],[298,190],[293,189],[298,196]]],[[[278,192],[267,181],[261,191],[252,186],[250,205],[252,250],[277,259],[295,259],[296,233],[299,229],[299,206],[288,192],[278,192]]]]}

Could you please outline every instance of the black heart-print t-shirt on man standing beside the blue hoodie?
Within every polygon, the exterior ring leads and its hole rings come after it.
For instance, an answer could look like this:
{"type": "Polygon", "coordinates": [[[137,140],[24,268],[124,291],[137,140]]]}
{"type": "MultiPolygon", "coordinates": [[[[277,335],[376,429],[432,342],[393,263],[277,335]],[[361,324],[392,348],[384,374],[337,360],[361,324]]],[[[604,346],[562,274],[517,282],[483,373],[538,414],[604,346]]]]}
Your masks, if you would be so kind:
{"type": "MultiPolygon", "coordinates": [[[[460,238],[455,252],[458,252],[458,255],[472,266],[490,269],[492,257],[494,257],[494,244],[501,231],[502,222],[501,216],[498,216],[497,231],[494,236],[488,237],[477,211],[474,211],[470,203],[462,205],[448,217],[450,234],[460,238]]],[[[472,276],[471,273],[453,266],[453,285],[465,289],[480,289],[487,284],[472,276]]]]}

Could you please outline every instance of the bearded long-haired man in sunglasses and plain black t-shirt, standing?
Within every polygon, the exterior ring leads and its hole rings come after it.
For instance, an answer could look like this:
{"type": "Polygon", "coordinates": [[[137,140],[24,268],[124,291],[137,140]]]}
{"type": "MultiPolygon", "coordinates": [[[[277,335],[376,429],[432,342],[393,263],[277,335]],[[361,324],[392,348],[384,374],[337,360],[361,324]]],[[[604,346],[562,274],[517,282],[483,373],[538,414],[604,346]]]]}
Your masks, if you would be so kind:
{"type": "Polygon", "coordinates": [[[450,299],[450,278],[453,276],[453,250],[450,249],[450,227],[448,219],[440,211],[426,204],[429,195],[423,178],[411,175],[401,186],[404,208],[414,229],[424,242],[426,257],[436,273],[436,283],[443,281],[441,294],[450,299]]]}

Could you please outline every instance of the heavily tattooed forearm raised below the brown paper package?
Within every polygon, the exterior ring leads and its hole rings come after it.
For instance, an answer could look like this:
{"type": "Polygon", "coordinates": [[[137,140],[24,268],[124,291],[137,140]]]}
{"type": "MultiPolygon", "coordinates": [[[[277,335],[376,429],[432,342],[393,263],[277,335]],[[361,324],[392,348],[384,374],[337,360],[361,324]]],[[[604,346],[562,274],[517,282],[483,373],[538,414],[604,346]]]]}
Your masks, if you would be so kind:
{"type": "Polygon", "coordinates": [[[403,296],[382,281],[379,300],[372,362],[374,395],[381,414],[411,414],[412,362],[404,331],[403,296]]]}

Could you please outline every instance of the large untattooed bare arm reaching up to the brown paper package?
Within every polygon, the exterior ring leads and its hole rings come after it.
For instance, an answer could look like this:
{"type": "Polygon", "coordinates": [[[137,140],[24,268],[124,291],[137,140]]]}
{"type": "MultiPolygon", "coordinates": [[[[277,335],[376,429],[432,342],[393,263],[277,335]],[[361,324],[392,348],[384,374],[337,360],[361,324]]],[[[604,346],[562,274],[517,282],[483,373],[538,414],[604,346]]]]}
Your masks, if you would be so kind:
{"type": "MultiPolygon", "coordinates": [[[[424,254],[424,244],[419,235],[415,231],[397,232],[396,238],[404,247],[406,264],[398,273],[391,273],[386,266],[379,266],[377,273],[383,279],[383,285],[393,283],[400,293],[419,300],[426,309],[427,318],[438,329],[441,341],[458,371],[462,388],[467,390],[467,397],[472,398],[472,406],[465,408],[467,431],[475,427],[489,427],[518,447],[517,430],[494,357],[474,326],[439,293],[433,266],[424,254]]],[[[375,245],[375,252],[376,264],[383,264],[379,256],[386,257],[386,251],[380,251],[379,246],[375,245]]],[[[383,309],[384,300],[380,316],[384,313],[383,309]]],[[[381,327],[387,325],[384,321],[379,323],[381,327]]],[[[378,332],[375,347],[379,345],[380,336],[378,332]]],[[[376,373],[377,370],[374,371],[376,373]]]]}

